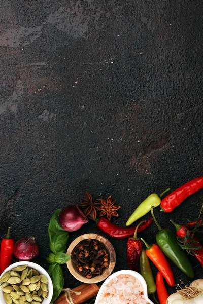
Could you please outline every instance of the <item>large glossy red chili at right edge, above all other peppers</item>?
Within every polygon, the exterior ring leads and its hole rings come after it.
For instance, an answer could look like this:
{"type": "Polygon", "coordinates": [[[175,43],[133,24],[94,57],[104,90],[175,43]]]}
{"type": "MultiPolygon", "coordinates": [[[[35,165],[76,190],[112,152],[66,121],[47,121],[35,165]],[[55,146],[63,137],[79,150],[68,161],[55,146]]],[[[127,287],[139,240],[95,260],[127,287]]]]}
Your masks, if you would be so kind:
{"type": "Polygon", "coordinates": [[[201,188],[203,188],[203,177],[188,181],[161,201],[161,210],[172,212],[174,208],[179,206],[188,196],[199,191],[201,188]]]}

